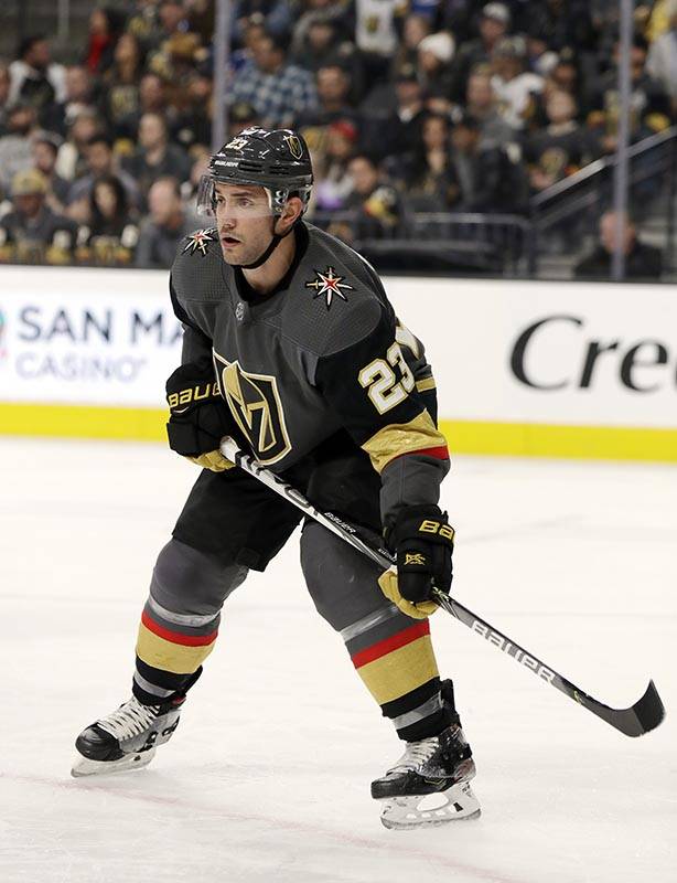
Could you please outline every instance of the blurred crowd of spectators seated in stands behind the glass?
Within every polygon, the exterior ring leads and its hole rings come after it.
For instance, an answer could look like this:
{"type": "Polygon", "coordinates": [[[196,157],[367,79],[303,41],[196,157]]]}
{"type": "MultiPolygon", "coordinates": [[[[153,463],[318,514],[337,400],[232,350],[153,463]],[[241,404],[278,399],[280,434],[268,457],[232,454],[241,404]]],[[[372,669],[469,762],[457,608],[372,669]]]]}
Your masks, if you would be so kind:
{"type": "MultiPolygon", "coordinates": [[[[614,151],[617,0],[234,0],[224,114],[294,127],[315,220],[387,240],[420,212],[520,214],[614,151]]],[[[97,8],[78,57],[0,60],[0,262],[166,267],[205,226],[213,0],[97,8]]],[[[677,119],[677,0],[635,4],[633,141],[677,119]]]]}

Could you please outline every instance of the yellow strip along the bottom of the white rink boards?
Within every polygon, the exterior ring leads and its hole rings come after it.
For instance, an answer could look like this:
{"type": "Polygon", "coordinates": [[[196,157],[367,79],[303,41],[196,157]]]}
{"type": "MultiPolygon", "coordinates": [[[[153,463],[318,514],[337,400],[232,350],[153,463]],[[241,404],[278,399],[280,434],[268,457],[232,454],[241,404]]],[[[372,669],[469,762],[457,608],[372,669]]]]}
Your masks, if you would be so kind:
{"type": "MultiPolygon", "coordinates": [[[[0,403],[0,434],[164,442],[162,408],[0,403]]],[[[677,429],[441,421],[453,454],[677,462],[677,429]]]]}

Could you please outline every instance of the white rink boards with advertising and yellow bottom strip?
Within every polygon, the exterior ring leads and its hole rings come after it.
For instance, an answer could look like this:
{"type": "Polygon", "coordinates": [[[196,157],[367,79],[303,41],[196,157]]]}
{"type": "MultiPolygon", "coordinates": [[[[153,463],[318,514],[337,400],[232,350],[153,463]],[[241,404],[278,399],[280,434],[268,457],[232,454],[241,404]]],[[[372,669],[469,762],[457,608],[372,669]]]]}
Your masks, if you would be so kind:
{"type": "MultiPolygon", "coordinates": [[[[667,286],[384,281],[453,451],[677,460],[667,286]]],[[[2,433],[163,439],[180,353],[164,272],[0,267],[2,433]]]]}

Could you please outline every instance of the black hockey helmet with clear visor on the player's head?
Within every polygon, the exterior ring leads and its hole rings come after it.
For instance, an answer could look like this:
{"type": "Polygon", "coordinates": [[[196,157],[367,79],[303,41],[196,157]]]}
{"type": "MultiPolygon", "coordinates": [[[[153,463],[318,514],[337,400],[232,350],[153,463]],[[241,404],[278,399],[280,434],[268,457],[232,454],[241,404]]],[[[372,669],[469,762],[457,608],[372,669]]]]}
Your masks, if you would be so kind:
{"type": "Polygon", "coordinates": [[[308,145],[291,129],[244,129],[209,160],[197,194],[200,214],[214,214],[216,182],[265,188],[273,215],[290,196],[299,196],[305,211],[313,184],[308,145]]]}

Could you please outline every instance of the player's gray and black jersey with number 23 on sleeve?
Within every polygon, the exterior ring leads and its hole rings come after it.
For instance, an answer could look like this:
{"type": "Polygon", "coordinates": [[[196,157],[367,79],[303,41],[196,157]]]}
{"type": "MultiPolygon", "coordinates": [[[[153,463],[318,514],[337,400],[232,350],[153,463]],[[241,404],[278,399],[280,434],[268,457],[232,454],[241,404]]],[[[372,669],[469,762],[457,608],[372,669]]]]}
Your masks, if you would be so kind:
{"type": "Polygon", "coordinates": [[[431,369],[367,262],[310,224],[293,235],[293,263],[266,297],[224,260],[215,230],[181,243],[171,294],[183,362],[212,355],[243,437],[276,472],[333,437],[366,451],[389,524],[402,506],[437,503],[449,469],[431,369]]]}

